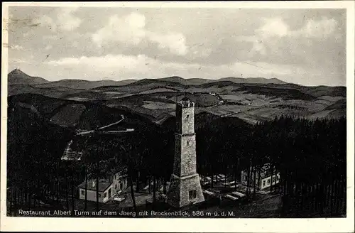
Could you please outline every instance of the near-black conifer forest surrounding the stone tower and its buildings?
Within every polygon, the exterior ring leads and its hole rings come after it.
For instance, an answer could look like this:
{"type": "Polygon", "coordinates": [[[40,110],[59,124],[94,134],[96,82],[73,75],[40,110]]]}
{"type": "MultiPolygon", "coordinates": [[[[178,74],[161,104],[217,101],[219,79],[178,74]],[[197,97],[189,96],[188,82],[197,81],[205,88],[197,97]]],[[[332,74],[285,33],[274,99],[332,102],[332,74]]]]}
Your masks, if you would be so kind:
{"type": "MultiPolygon", "coordinates": [[[[270,163],[280,173],[281,182],[273,189],[283,193],[283,217],[346,215],[345,118],[310,121],[281,116],[251,125],[202,113],[195,122],[201,175],[222,173],[239,180],[241,170],[253,166],[249,172],[257,173],[270,163]]],[[[131,183],[147,179],[166,183],[173,168],[174,129],[175,117],[171,117],[163,125],[143,124],[129,136],[78,138],[84,162],[67,165],[60,156],[74,137],[72,129],[35,114],[9,112],[8,187],[16,187],[12,202],[35,206],[33,194],[68,198],[68,193],[75,195],[74,187],[84,180],[85,170],[104,176],[117,164],[129,168],[131,183]]],[[[255,189],[248,195],[252,199],[255,189]]],[[[67,199],[63,208],[68,207],[67,199]]]]}

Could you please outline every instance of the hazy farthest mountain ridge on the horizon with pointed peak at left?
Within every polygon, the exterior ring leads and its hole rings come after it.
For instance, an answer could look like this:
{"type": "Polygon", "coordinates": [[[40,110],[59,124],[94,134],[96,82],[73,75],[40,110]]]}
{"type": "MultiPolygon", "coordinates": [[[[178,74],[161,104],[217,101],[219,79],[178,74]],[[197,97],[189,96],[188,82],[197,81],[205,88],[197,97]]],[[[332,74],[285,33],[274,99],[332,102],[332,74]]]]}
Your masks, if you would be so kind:
{"type": "Polygon", "coordinates": [[[284,85],[287,82],[283,82],[276,78],[263,78],[263,77],[249,77],[249,78],[241,78],[241,77],[223,77],[218,80],[208,80],[202,78],[189,78],[184,79],[182,77],[173,76],[173,77],[163,77],[158,79],[143,79],[143,80],[122,80],[122,81],[114,81],[114,80],[98,80],[98,81],[87,81],[87,80],[79,80],[79,79],[65,79],[59,80],[55,82],[50,82],[45,80],[42,77],[33,77],[27,75],[25,72],[21,70],[13,70],[8,75],[8,83],[9,85],[34,85],[40,88],[51,88],[51,87],[68,87],[72,89],[78,90],[89,90],[96,87],[106,87],[106,86],[124,86],[130,84],[144,84],[145,82],[175,82],[180,85],[186,86],[196,86],[203,85],[212,82],[221,82],[221,81],[229,81],[234,83],[255,83],[255,84],[276,84],[276,85],[284,85]]]}

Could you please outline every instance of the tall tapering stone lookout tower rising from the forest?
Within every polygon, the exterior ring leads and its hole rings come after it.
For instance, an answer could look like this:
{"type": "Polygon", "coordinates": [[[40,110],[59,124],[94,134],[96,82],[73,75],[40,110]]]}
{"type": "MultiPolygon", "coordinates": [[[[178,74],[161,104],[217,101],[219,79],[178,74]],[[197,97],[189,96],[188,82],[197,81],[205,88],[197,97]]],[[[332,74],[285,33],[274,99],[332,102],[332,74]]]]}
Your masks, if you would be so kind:
{"type": "Polygon", "coordinates": [[[175,157],[168,204],[184,207],[204,201],[196,172],[195,103],[184,97],[176,104],[175,157]]]}

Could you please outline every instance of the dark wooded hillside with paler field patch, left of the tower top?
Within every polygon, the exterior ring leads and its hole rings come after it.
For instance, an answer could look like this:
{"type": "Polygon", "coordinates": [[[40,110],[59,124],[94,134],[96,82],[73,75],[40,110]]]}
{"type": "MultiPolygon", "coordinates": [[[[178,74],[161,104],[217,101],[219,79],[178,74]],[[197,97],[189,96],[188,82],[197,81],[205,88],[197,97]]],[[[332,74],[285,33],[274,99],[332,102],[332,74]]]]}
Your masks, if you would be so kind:
{"type": "Polygon", "coordinates": [[[127,128],[142,127],[143,129],[153,126],[149,119],[125,107],[110,108],[92,102],[57,99],[45,97],[41,94],[18,94],[11,96],[8,98],[8,106],[9,114],[11,115],[13,114],[11,112],[12,108],[18,109],[18,111],[21,109],[35,109],[35,112],[40,114],[40,119],[47,124],[75,126],[75,129],[90,130],[97,126],[111,124],[116,119],[121,119],[121,114],[126,116],[121,126],[127,126],[127,128]],[[75,121],[74,124],[70,124],[72,121],[75,121]]]}

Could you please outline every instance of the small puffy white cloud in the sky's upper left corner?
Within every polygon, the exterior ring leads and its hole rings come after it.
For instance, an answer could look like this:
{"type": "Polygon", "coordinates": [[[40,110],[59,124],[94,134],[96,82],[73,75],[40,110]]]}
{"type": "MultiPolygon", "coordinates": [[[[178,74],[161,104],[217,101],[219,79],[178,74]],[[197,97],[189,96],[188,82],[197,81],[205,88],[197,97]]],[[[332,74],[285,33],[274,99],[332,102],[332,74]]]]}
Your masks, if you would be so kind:
{"type": "Polygon", "coordinates": [[[77,11],[78,8],[60,8],[56,11],[55,17],[50,17],[47,15],[35,18],[33,23],[40,24],[40,26],[47,27],[50,31],[74,31],[80,26],[82,20],[72,13],[77,11]]]}

